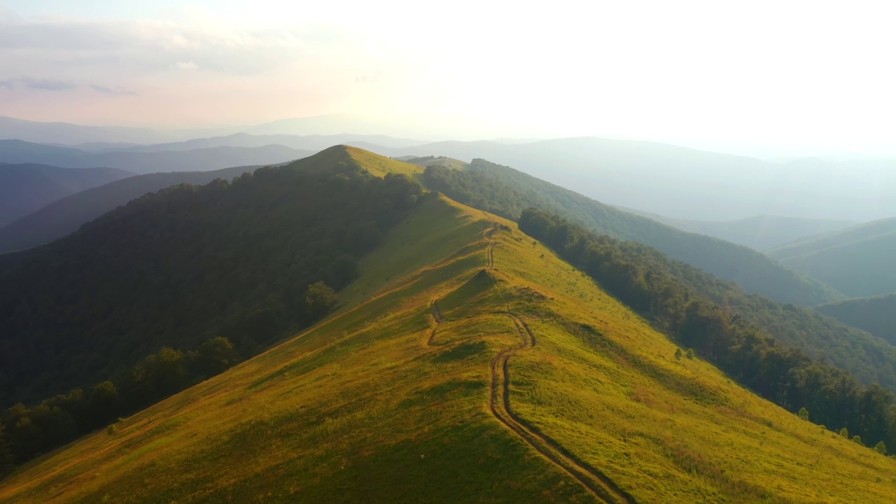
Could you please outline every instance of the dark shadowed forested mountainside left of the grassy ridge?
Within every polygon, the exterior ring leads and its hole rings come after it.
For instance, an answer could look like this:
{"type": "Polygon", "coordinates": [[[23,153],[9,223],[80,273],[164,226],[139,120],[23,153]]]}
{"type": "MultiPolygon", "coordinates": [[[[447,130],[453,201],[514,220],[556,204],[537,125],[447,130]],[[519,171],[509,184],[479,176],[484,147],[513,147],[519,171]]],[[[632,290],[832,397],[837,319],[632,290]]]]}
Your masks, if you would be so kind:
{"type": "Polygon", "coordinates": [[[0,405],[99,383],[164,346],[221,336],[253,355],[319,317],[309,285],[347,285],[421,194],[329,151],[170,187],[16,256],[0,274],[0,405]]]}

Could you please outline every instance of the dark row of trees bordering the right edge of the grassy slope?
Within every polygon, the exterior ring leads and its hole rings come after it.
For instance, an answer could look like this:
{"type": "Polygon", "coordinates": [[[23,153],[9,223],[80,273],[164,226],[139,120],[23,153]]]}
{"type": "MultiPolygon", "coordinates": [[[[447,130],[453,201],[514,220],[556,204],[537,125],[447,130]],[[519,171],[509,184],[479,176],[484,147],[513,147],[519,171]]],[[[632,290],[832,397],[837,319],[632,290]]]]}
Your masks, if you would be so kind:
{"type": "MultiPolygon", "coordinates": [[[[540,210],[527,209],[520,229],[553,248],[603,289],[650,320],[682,347],[776,404],[867,446],[896,447],[896,398],[862,386],[848,372],[814,361],[795,347],[719,305],[697,289],[702,272],[654,248],[597,235],[540,210]]],[[[680,357],[680,355],[678,356],[680,357]]]]}

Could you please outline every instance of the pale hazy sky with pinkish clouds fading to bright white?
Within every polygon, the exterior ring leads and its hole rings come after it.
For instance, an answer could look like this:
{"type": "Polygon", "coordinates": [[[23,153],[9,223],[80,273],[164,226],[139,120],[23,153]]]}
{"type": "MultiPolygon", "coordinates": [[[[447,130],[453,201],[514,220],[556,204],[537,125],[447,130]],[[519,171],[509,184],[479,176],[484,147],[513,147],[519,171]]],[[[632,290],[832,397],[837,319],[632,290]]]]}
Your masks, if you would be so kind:
{"type": "MultiPolygon", "coordinates": [[[[0,116],[896,155],[889,2],[0,0],[0,116]]],[[[441,137],[441,138],[435,138],[441,137]]]]}

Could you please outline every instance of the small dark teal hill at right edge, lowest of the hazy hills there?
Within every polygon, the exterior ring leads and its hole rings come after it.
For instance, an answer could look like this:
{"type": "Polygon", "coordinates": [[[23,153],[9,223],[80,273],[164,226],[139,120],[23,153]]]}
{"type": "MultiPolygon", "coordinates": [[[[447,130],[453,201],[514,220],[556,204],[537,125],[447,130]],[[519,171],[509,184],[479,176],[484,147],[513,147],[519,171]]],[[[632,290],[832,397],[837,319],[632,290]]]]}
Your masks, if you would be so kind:
{"type": "Polygon", "coordinates": [[[815,309],[896,345],[896,293],[842,300],[815,309]]]}

